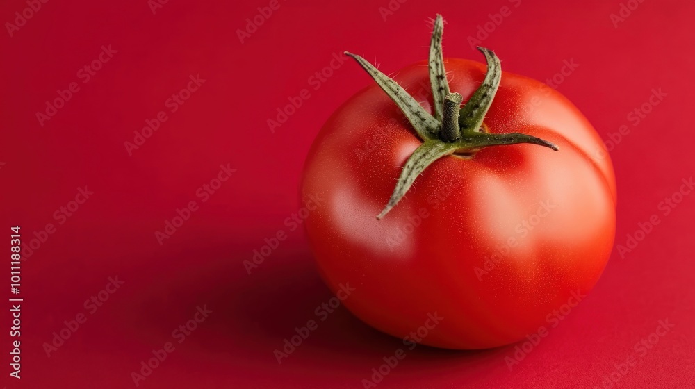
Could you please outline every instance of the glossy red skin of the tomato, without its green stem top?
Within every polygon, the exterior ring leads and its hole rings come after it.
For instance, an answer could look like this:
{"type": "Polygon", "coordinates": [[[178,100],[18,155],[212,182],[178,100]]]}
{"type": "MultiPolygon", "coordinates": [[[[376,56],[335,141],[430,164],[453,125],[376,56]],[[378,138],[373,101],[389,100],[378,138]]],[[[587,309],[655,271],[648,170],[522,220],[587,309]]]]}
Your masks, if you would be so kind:
{"type": "MultiPolygon", "coordinates": [[[[469,60],[445,67],[464,101],[486,71],[469,60]]],[[[395,80],[432,112],[426,63],[395,80]]],[[[559,151],[516,144],[446,156],[383,220],[375,216],[421,144],[398,107],[372,84],[316,138],[302,181],[304,201],[323,199],[304,223],[311,248],[329,288],[350,283],[343,304],[376,329],[404,338],[436,313],[443,319],[425,345],[507,345],[557,326],[603,272],[616,184],[591,124],[555,90],[507,72],[484,122],[491,133],[534,135],[559,151]]]]}

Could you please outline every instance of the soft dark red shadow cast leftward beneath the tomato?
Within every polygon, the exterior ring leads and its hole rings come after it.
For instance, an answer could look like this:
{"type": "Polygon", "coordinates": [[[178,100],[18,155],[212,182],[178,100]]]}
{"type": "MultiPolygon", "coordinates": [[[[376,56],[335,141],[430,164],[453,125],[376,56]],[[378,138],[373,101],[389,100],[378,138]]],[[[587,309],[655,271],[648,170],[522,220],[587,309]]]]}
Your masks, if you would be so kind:
{"type": "Polygon", "coordinates": [[[142,340],[155,344],[166,340],[169,331],[206,304],[213,313],[199,324],[186,347],[222,363],[252,361],[268,372],[330,372],[358,384],[398,349],[406,357],[391,372],[394,376],[461,369],[479,370],[480,375],[481,366],[487,367],[482,372],[504,367],[506,348],[455,351],[417,345],[409,349],[402,340],[364,324],[344,306],[318,315],[317,309],[323,312],[322,304],[333,295],[320,279],[306,245],[277,249],[251,274],[243,267],[250,250],[237,249],[230,258],[227,249],[231,248],[211,249],[205,266],[163,276],[167,281],[154,285],[153,295],[142,296],[136,313],[142,340]],[[313,331],[302,329],[309,320],[317,324],[313,331]],[[301,344],[284,349],[285,340],[297,335],[297,329],[304,334],[301,344]],[[153,340],[153,333],[162,336],[153,340]]]}

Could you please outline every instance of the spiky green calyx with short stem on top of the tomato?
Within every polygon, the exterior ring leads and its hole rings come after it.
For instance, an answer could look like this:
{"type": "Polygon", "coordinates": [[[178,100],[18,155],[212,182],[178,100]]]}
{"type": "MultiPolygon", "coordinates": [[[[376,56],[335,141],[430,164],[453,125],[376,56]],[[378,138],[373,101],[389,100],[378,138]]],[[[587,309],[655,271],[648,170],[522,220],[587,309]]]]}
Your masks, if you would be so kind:
{"type": "Polygon", "coordinates": [[[377,82],[379,87],[391,97],[402,110],[423,144],[408,158],[398,177],[393,194],[377,219],[389,213],[398,201],[413,185],[420,175],[435,160],[451,154],[470,156],[476,151],[491,146],[505,144],[530,143],[549,147],[557,151],[557,146],[546,140],[522,133],[487,133],[483,131],[483,120],[497,93],[502,78],[502,65],[495,53],[484,47],[478,47],[487,60],[487,73],[480,87],[470,99],[461,106],[461,94],[452,93],[446,79],[444,59],[441,50],[441,38],[444,24],[441,15],[436,15],[434,31],[430,42],[430,84],[434,97],[434,115],[379,69],[368,63],[361,56],[345,51],[345,55],[354,58],[363,69],[377,82]]]}

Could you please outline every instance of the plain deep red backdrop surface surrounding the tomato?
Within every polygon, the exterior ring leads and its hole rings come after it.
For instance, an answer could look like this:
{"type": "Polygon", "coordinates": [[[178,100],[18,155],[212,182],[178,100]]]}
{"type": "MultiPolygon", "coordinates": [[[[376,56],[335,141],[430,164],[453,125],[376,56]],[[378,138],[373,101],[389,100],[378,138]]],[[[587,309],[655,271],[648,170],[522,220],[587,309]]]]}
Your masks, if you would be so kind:
{"type": "MultiPolygon", "coordinates": [[[[502,66],[546,80],[574,60],[579,66],[557,89],[605,140],[627,126],[612,149],[616,246],[627,245],[639,223],[659,223],[630,252],[614,249],[594,291],[511,371],[505,357],[514,358],[514,347],[418,346],[378,386],[594,388],[611,373],[614,388],[695,386],[695,199],[676,195],[676,208],[662,203],[695,167],[695,5],[644,1],[615,28],[610,15],[619,13],[619,1],[408,1],[385,21],[379,7],[388,1],[325,3],[281,1],[243,44],[236,30],[267,1],[170,1],[155,15],[146,1],[49,1],[13,37],[0,34],[1,226],[7,240],[10,226],[22,226],[26,245],[47,223],[56,225],[22,263],[21,380],[9,376],[11,324],[3,308],[0,385],[129,388],[140,362],[172,342],[174,351],[140,387],[362,388],[403,345],[343,307],[281,365],[273,355],[332,297],[302,229],[284,222],[300,209],[304,156],[332,110],[369,82],[347,61],[325,82],[309,78],[345,49],[376,59],[387,73],[423,60],[435,13],[448,22],[445,56],[481,60],[466,37],[511,6],[483,41],[502,66]],[[109,44],[117,53],[83,83],[79,69],[109,44]],[[171,113],[167,99],[196,74],[206,81],[171,113]],[[35,113],[72,82],[79,91],[40,126],[35,113]],[[304,88],[311,97],[271,133],[267,119],[304,88]],[[660,88],[667,96],[638,122],[630,112],[660,88]],[[129,156],[124,142],[160,110],[167,121],[129,156]],[[227,163],[236,172],[202,201],[197,189],[227,163]],[[84,185],[94,194],[58,225],[63,219],[54,212],[84,185]],[[190,201],[199,208],[159,245],[155,231],[190,201]],[[288,238],[247,274],[243,261],[278,231],[288,238]],[[110,276],[124,284],[90,314],[85,300],[110,276]],[[172,331],[204,305],[213,312],[179,343],[172,331]],[[48,357],[44,342],[79,313],[86,322],[48,357]],[[673,328],[636,350],[660,320],[673,328]]],[[[24,8],[24,1],[4,1],[3,25],[24,8]]],[[[10,298],[6,266],[0,290],[10,298]]]]}

